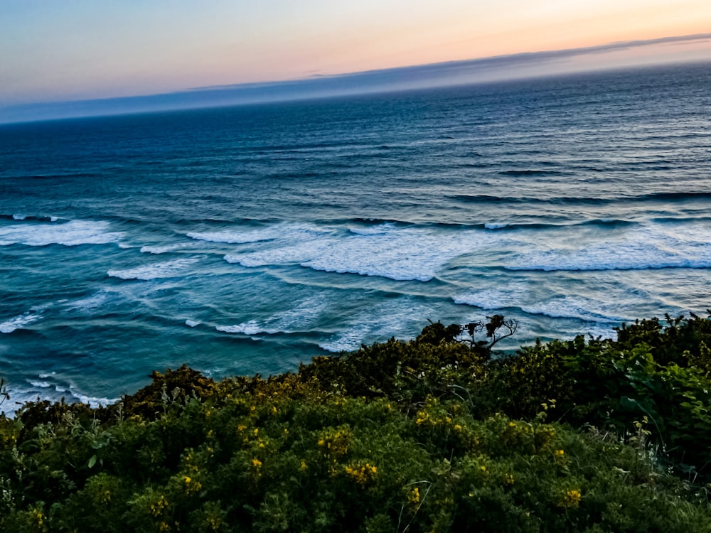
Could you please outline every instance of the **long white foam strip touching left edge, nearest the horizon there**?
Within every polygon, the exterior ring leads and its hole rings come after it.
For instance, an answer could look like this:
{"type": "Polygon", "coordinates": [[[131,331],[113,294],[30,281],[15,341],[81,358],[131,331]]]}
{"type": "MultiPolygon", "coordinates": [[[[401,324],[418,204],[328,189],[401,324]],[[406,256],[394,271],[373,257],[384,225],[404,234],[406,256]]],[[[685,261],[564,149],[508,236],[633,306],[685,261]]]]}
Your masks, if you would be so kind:
{"type": "Polygon", "coordinates": [[[118,242],[122,237],[122,233],[109,231],[109,222],[90,220],[73,220],[63,224],[40,222],[0,226],[0,246],[9,246],[10,244],[26,244],[27,246],[109,244],[118,242]]]}

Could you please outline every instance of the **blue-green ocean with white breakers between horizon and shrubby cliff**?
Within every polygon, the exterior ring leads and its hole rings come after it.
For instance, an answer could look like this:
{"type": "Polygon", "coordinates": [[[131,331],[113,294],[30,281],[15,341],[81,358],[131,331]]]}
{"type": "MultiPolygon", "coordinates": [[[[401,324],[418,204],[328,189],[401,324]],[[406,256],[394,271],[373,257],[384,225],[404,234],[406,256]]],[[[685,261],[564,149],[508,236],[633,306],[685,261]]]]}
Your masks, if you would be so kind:
{"type": "MultiPolygon", "coordinates": [[[[107,402],[427,319],[711,307],[711,64],[0,126],[0,375],[107,402]]],[[[4,404],[11,411],[14,404],[4,404]]]]}

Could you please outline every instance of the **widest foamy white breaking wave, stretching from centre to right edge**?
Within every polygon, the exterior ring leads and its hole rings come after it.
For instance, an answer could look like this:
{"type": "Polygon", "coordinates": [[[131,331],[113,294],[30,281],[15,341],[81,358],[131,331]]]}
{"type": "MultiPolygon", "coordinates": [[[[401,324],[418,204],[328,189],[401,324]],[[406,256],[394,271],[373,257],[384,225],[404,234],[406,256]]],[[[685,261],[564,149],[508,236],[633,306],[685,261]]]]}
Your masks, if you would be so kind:
{"type": "MultiPolygon", "coordinates": [[[[282,224],[250,230],[249,249],[225,254],[247,268],[299,265],[338,274],[426,282],[459,257],[508,270],[710,268],[707,224],[647,224],[595,219],[574,225],[486,222],[483,225],[378,225],[319,229],[282,224]],[[599,227],[579,232],[576,227],[599,227]],[[535,230],[523,232],[523,230],[535,230]],[[555,232],[546,232],[555,230],[555,232]],[[604,231],[603,231],[604,230],[604,231]],[[497,259],[501,258],[501,259],[497,259]]],[[[242,242],[223,235],[230,242],[242,242]]]]}

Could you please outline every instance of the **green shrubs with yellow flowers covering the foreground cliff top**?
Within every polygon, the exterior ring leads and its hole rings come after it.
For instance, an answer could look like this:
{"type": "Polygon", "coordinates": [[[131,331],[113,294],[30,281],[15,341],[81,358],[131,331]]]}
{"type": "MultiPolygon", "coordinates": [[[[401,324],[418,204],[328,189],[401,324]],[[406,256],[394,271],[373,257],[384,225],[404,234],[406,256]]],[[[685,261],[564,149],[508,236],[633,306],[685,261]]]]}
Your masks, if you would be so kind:
{"type": "Polygon", "coordinates": [[[514,330],[27,404],[0,416],[0,531],[711,532],[711,321],[492,357],[514,330]]]}

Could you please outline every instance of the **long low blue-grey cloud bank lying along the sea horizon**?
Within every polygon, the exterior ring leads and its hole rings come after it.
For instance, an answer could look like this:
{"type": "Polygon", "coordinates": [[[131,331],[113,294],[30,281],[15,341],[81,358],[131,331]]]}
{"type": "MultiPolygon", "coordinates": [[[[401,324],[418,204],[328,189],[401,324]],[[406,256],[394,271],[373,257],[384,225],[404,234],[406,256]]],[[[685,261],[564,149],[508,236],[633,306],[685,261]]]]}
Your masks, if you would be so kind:
{"type": "Polygon", "coordinates": [[[622,41],[567,50],[498,55],[491,58],[367,70],[340,75],[312,73],[309,77],[301,80],[198,87],[161,95],[24,104],[0,108],[0,122],[24,122],[39,119],[220,107],[257,102],[277,102],[464,85],[503,80],[511,77],[549,74],[555,72],[556,66],[560,67],[557,70],[558,72],[565,72],[565,64],[570,64],[570,60],[586,55],[602,55],[653,45],[705,41],[711,41],[711,33],[697,33],[695,35],[664,37],[644,41],[622,41]],[[547,70],[545,70],[546,67],[547,70]]]}

